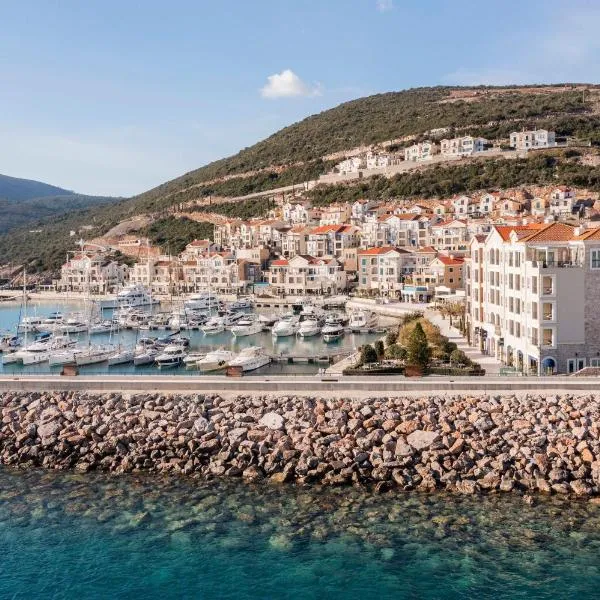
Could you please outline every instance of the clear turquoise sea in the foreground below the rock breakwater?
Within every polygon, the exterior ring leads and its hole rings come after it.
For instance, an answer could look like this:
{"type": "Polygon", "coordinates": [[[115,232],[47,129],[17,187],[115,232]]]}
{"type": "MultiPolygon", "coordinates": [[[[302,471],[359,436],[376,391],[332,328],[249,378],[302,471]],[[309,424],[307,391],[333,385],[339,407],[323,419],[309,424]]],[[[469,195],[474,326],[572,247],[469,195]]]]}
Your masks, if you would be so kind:
{"type": "Polygon", "coordinates": [[[0,470],[1,598],[597,598],[600,507],[0,470]]]}

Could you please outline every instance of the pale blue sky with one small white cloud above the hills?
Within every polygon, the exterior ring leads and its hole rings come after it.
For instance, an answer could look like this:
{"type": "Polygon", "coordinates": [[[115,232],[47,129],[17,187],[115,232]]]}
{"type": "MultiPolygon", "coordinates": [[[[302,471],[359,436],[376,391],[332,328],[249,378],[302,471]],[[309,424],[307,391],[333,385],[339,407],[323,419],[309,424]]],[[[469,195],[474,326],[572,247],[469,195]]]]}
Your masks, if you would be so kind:
{"type": "Polygon", "coordinates": [[[0,173],[88,194],[361,96],[600,80],[597,1],[5,0],[0,20],[0,173]]]}

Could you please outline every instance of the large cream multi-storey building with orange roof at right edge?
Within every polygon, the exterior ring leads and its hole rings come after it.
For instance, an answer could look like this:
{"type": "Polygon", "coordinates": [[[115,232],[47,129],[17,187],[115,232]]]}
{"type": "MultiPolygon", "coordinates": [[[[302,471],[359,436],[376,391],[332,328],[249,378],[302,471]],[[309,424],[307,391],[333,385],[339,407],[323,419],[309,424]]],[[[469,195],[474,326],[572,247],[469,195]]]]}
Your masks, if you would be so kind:
{"type": "Polygon", "coordinates": [[[519,371],[600,366],[600,228],[495,226],[466,261],[471,340],[519,371]]]}

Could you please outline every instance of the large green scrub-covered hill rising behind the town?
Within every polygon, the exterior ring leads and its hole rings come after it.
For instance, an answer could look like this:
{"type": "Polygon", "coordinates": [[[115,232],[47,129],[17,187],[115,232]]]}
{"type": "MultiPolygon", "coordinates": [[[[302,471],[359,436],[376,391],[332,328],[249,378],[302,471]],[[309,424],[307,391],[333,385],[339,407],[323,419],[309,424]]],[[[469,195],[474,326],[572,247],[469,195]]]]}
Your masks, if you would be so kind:
{"type": "MultiPolygon", "coordinates": [[[[91,228],[90,235],[96,236],[137,214],[165,218],[181,203],[209,196],[218,203],[219,197],[235,197],[302,183],[318,177],[330,168],[332,161],[339,160],[345,152],[356,147],[390,140],[401,147],[408,144],[409,139],[421,139],[432,129],[441,127],[447,128],[448,135],[468,132],[490,138],[506,137],[510,131],[523,127],[545,127],[555,130],[559,137],[572,136],[600,145],[600,87],[587,84],[434,87],[360,98],[285,127],[234,156],[186,173],[139,196],[116,202],[109,211],[94,207],[52,218],[45,222],[43,240],[37,241],[35,251],[27,230],[11,232],[0,237],[0,256],[4,260],[25,262],[34,270],[56,268],[71,247],[70,230],[78,231],[87,225],[91,228]]],[[[552,165],[541,169],[543,175],[538,173],[538,178],[556,176],[567,159],[557,155],[553,160],[552,165]]],[[[513,184],[527,184],[530,183],[527,178],[538,168],[528,168],[530,163],[528,159],[525,161],[525,165],[515,162],[513,166],[503,166],[502,177],[477,179],[472,173],[477,167],[472,166],[468,167],[471,171],[466,175],[461,174],[466,167],[456,167],[450,176],[463,181],[458,187],[466,185],[468,189],[473,185],[486,185],[486,181],[499,184],[501,179],[513,184]],[[470,183],[464,183],[465,177],[470,183]]],[[[572,159],[568,161],[573,162],[572,159]]],[[[510,161],[498,159],[496,162],[510,161]]],[[[578,168],[575,170],[579,172],[578,168]]],[[[427,180],[428,194],[454,189],[448,185],[447,170],[433,171],[433,181],[427,180]],[[437,180],[446,183],[436,185],[437,180]]],[[[583,179],[593,178],[593,173],[584,171],[583,179]]],[[[423,183],[419,177],[422,175],[406,174],[395,182],[392,180],[393,188],[386,182],[371,184],[369,180],[361,182],[360,186],[372,186],[373,193],[378,188],[385,194],[402,193],[405,189],[414,192],[418,191],[420,181],[423,183]]],[[[353,190],[349,186],[321,189],[318,196],[315,194],[315,200],[327,203],[338,193],[351,196],[361,189],[360,186],[353,190]]],[[[233,215],[239,210],[248,215],[259,210],[261,203],[252,201],[238,208],[225,206],[222,205],[223,210],[228,214],[233,215]]]]}

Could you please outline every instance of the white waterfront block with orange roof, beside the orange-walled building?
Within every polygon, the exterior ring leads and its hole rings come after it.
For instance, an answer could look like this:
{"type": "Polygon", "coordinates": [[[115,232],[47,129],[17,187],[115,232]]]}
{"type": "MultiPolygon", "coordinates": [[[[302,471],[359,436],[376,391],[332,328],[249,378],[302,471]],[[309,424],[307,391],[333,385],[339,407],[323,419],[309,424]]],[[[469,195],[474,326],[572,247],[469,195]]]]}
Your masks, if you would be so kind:
{"type": "Polygon", "coordinates": [[[415,255],[403,248],[384,246],[358,252],[358,289],[398,296],[404,279],[415,270],[415,255]]]}

